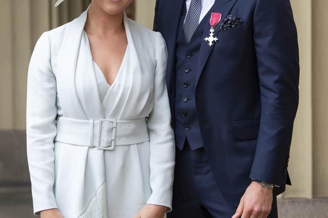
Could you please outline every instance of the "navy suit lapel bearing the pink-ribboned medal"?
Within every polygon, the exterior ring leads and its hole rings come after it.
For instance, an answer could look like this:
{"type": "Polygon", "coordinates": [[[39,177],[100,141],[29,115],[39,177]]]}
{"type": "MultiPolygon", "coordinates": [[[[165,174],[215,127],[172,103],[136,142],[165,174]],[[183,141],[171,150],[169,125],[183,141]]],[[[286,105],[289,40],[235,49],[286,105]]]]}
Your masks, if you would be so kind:
{"type": "MultiPolygon", "coordinates": [[[[223,21],[224,18],[227,17],[227,15],[229,14],[230,10],[232,9],[232,7],[236,3],[236,1],[237,0],[216,0],[215,1],[214,5],[211,8],[211,10],[209,11],[209,13],[212,13],[212,12],[221,13],[222,17],[221,17],[221,21],[214,28],[214,33],[215,33],[214,36],[217,36],[221,22],[223,21]]],[[[203,32],[203,37],[201,38],[202,42],[201,42],[201,46],[200,46],[199,58],[198,58],[198,63],[197,63],[197,71],[196,71],[196,86],[199,81],[201,72],[211,54],[213,47],[215,46],[215,43],[214,43],[214,45],[209,46],[208,42],[206,42],[204,40],[204,38],[209,36],[210,29],[211,29],[210,20],[208,20],[207,22],[208,22],[208,25],[205,26],[204,32],[203,32]]],[[[216,43],[218,43],[218,41],[216,43]]]]}

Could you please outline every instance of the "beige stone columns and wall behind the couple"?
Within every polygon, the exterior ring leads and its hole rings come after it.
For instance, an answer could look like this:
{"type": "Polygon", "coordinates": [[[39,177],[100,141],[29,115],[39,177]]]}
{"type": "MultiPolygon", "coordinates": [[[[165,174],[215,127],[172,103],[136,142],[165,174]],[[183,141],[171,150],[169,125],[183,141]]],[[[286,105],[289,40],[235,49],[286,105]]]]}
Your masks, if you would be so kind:
{"type": "MultiPolygon", "coordinates": [[[[90,0],[67,0],[57,9],[54,2],[0,0],[0,188],[29,184],[24,131],[27,67],[34,44],[42,32],[78,16],[90,0]]],[[[293,186],[282,198],[328,197],[328,1],[291,3],[300,48],[300,102],[289,166],[293,186]]],[[[135,0],[129,14],[151,29],[154,6],[155,0],[135,0]]],[[[0,191],[0,205],[1,199],[0,191]]]]}

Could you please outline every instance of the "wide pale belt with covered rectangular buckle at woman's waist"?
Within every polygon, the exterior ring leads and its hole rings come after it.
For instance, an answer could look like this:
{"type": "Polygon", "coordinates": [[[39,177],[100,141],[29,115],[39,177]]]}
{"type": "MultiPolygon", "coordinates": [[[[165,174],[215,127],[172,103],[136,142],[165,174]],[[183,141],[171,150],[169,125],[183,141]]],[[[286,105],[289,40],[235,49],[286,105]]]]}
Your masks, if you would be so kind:
{"type": "Polygon", "coordinates": [[[76,146],[114,150],[115,146],[149,141],[146,118],[116,121],[115,119],[83,120],[59,117],[54,141],[76,146]]]}

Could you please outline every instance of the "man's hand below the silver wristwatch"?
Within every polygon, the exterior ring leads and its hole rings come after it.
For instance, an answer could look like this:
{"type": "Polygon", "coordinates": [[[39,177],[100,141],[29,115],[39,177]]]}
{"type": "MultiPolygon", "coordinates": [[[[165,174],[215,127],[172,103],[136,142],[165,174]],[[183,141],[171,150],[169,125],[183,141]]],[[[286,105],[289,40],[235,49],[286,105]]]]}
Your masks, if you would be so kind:
{"type": "Polygon", "coordinates": [[[242,196],[232,218],[267,218],[271,212],[273,189],[253,181],[242,196]]]}

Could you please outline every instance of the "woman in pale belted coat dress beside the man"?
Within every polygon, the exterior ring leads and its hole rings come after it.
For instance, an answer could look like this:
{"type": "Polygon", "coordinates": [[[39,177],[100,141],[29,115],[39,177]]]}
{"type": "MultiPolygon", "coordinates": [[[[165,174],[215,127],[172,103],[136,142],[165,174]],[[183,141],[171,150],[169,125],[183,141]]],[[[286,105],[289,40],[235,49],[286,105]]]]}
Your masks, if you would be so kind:
{"type": "Polygon", "coordinates": [[[126,17],[131,2],[93,0],[36,43],[27,152],[42,218],[162,218],[171,210],[166,45],[126,17]]]}

